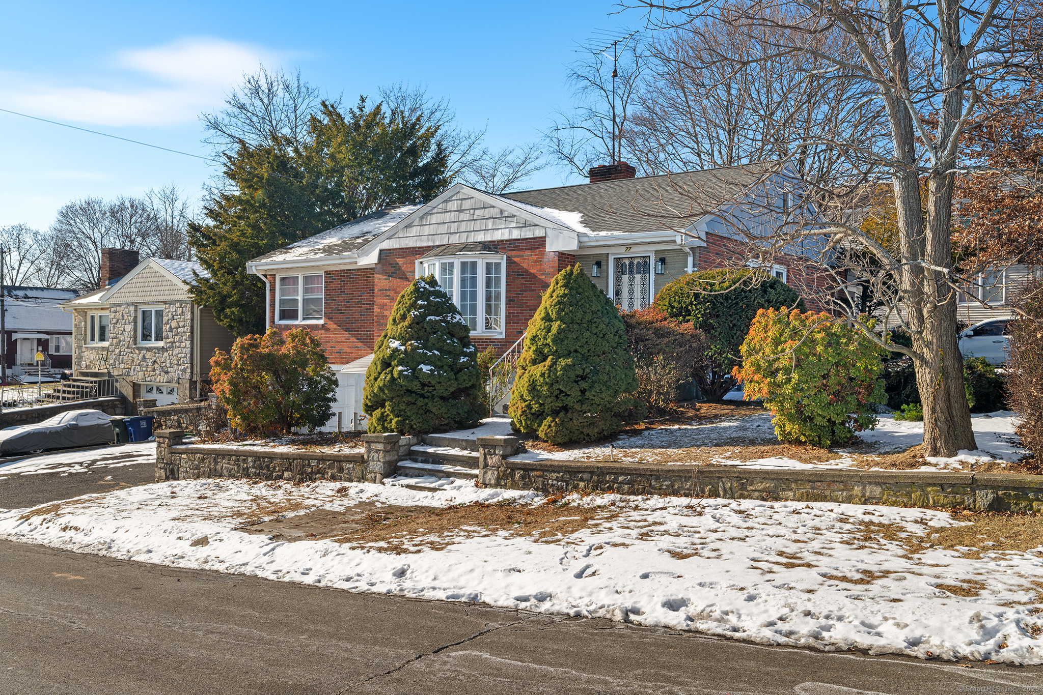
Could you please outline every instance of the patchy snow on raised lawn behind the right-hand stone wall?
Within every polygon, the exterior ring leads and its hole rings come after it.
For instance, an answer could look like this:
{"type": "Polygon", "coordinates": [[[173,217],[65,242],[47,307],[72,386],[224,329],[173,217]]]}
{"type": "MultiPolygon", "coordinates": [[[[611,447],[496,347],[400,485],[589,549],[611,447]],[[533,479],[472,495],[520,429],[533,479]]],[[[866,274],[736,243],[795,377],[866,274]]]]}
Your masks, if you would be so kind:
{"type": "MultiPolygon", "coordinates": [[[[999,411],[988,415],[972,415],[971,424],[978,450],[960,451],[951,458],[928,458],[928,466],[918,470],[963,470],[964,464],[989,461],[1015,462],[1024,453],[1014,433],[1015,413],[999,411]]],[[[879,416],[875,429],[858,433],[858,439],[872,446],[872,453],[894,453],[923,443],[923,422],[895,420],[892,415],[879,416]]],[[[622,435],[616,441],[596,447],[571,449],[566,451],[530,450],[512,456],[513,461],[607,461],[609,456],[618,462],[655,462],[657,450],[672,450],[698,447],[735,446],[730,454],[713,458],[722,466],[772,469],[835,469],[852,468],[854,461],[844,448],[833,449],[841,457],[826,462],[802,463],[784,456],[766,458],[744,458],[744,446],[779,444],[772,425],[771,413],[754,413],[708,423],[674,425],[646,429],[637,435],[622,435]],[[611,453],[609,453],[611,447],[611,453]]],[[[684,462],[669,461],[668,464],[684,462]]]]}

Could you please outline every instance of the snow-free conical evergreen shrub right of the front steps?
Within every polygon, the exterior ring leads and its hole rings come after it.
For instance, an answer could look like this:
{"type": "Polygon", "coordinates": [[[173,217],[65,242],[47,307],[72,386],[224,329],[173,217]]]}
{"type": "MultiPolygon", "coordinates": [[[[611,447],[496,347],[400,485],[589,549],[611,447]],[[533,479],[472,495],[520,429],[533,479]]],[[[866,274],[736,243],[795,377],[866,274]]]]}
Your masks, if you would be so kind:
{"type": "Polygon", "coordinates": [[[509,413],[552,444],[591,442],[644,417],[623,319],[577,264],[558,273],[529,321],[509,413]]]}

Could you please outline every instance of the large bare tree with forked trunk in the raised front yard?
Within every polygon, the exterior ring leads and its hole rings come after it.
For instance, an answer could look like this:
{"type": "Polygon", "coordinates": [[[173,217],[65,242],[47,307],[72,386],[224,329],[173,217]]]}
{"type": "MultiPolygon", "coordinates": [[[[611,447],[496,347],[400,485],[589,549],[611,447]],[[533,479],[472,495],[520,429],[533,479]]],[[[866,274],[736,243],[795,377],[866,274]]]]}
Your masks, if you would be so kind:
{"type": "MultiPolygon", "coordinates": [[[[904,4],[899,0],[727,0],[668,2],[642,0],[659,26],[700,31],[706,23],[722,23],[737,34],[773,39],[768,51],[736,61],[726,51],[714,59],[741,67],[789,54],[821,60],[816,74],[850,81],[872,90],[882,103],[889,126],[886,146],[844,132],[824,133],[818,141],[795,145],[826,145],[862,163],[862,179],[886,179],[895,202],[897,252],[889,251],[852,220],[850,203],[821,210],[821,217],[784,225],[801,243],[807,234],[829,240],[819,255],[823,272],[834,273],[843,288],[851,275],[862,280],[862,268],[836,268],[833,251],[847,247],[871,254],[890,278],[894,314],[912,336],[913,347],[890,346],[914,362],[924,406],[923,452],[951,456],[975,449],[964,391],[963,359],[957,346],[957,301],[966,278],[952,258],[953,188],[957,173],[973,174],[962,166],[960,143],[964,131],[988,119],[988,95],[1030,81],[1041,73],[1040,5],[1035,1],[972,0],[961,4],[904,4]],[[787,18],[781,20],[779,18],[787,18]],[[814,39],[841,30],[856,49],[853,56],[833,55],[816,48],[814,39]],[[925,187],[926,200],[921,199],[925,187]],[[803,237],[801,235],[803,234],[803,237]]],[[[804,70],[804,68],[800,68],[804,70]]],[[[792,158],[793,155],[791,155],[792,158]]],[[[789,162],[778,165],[781,171],[789,162]]],[[[838,181],[846,184],[850,181],[838,181]]],[[[781,242],[772,247],[780,248],[781,242]]],[[[881,288],[884,282],[880,280],[881,288]]],[[[835,286],[834,286],[835,287],[835,286]]],[[[858,317],[847,316],[867,334],[879,338],[858,317]]]]}

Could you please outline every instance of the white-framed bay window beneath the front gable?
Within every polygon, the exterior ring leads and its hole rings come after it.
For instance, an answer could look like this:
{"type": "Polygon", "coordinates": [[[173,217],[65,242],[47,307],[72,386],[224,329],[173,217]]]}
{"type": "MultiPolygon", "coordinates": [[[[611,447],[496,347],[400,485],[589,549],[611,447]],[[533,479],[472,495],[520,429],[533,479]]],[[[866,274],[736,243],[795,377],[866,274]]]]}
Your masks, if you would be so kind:
{"type": "Polygon", "coordinates": [[[504,330],[504,256],[422,260],[417,272],[434,275],[476,332],[504,330]]]}

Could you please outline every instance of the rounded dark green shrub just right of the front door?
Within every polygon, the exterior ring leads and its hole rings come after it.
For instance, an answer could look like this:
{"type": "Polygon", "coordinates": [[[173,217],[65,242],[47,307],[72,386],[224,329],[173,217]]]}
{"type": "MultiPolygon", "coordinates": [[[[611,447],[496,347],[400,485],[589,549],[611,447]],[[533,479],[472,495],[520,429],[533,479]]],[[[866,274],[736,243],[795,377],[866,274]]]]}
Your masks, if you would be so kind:
{"type": "Polygon", "coordinates": [[[709,341],[706,367],[692,376],[707,400],[724,398],[737,381],[731,370],[759,309],[789,306],[807,311],[797,291],[762,269],[720,269],[677,278],[656,297],[655,305],[672,319],[690,321],[709,341]]]}

